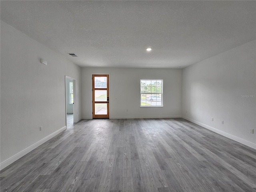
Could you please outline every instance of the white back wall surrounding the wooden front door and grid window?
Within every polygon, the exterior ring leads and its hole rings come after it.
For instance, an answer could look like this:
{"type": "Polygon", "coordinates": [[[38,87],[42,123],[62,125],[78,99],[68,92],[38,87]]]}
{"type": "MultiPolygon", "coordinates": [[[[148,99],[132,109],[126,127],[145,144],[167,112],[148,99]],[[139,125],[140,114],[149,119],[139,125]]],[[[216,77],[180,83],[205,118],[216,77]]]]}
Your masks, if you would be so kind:
{"type": "Polygon", "coordinates": [[[92,118],[92,74],[110,74],[110,118],[181,117],[180,69],[82,68],[82,118],[92,118]],[[163,107],[140,107],[140,79],[163,79],[163,107]]]}

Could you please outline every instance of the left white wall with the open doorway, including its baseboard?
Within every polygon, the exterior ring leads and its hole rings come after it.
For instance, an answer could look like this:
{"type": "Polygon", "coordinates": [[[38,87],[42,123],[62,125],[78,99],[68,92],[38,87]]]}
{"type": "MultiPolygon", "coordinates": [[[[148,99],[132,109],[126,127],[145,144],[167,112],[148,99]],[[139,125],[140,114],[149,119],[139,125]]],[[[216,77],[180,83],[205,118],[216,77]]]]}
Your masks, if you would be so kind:
{"type": "Polygon", "coordinates": [[[66,128],[65,75],[79,120],[81,68],[1,21],[1,169],[66,128]]]}

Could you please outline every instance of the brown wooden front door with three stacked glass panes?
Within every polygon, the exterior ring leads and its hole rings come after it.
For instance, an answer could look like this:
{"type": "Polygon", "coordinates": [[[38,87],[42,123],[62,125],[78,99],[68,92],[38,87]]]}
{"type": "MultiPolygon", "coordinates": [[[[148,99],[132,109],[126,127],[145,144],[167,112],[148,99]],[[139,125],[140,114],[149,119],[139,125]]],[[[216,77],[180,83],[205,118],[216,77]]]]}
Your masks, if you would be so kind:
{"type": "Polygon", "coordinates": [[[108,79],[108,75],[92,75],[92,118],[109,118],[108,79]]]}

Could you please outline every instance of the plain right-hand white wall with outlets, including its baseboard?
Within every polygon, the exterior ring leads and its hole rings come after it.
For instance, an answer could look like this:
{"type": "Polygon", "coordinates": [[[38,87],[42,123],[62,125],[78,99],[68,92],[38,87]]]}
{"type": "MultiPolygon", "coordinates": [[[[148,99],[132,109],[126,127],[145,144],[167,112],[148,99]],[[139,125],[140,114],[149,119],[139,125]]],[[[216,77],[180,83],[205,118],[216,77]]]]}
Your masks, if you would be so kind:
{"type": "Polygon", "coordinates": [[[184,68],[182,77],[184,118],[256,148],[256,40],[184,68]]]}

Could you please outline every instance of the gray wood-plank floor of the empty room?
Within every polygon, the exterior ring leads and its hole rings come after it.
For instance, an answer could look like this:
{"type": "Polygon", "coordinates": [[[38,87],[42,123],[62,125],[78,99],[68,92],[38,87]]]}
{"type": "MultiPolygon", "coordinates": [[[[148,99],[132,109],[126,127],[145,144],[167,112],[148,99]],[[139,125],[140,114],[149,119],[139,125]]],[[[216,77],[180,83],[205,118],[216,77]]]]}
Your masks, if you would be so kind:
{"type": "Polygon", "coordinates": [[[82,120],[1,171],[1,192],[256,192],[256,150],[182,118],[82,120]]]}

